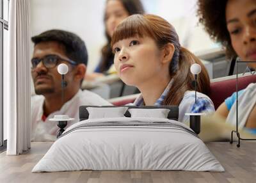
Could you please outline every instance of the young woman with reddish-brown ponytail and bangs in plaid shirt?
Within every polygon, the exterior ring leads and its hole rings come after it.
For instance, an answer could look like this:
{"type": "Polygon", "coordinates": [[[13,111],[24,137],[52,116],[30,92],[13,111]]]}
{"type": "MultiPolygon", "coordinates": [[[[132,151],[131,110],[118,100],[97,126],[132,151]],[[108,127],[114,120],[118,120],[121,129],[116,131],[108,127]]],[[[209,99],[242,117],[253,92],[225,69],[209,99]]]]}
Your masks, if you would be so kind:
{"type": "Polygon", "coordinates": [[[211,99],[205,95],[210,82],[204,65],[180,46],[179,36],[166,20],[156,15],[131,15],[117,26],[111,47],[118,76],[141,92],[136,106],[179,106],[180,122],[188,120],[185,113],[214,112],[211,99]],[[190,72],[193,63],[202,67],[196,104],[190,72]]]}

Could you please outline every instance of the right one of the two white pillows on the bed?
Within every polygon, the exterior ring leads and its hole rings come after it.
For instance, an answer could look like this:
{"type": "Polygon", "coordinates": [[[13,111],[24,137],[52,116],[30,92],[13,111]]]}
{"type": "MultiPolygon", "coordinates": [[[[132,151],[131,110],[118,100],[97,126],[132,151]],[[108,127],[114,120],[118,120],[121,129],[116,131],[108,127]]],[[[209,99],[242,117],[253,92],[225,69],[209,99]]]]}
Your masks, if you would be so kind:
{"type": "Polygon", "coordinates": [[[167,118],[170,109],[128,109],[131,113],[131,118],[136,117],[150,117],[150,118],[167,118]]]}

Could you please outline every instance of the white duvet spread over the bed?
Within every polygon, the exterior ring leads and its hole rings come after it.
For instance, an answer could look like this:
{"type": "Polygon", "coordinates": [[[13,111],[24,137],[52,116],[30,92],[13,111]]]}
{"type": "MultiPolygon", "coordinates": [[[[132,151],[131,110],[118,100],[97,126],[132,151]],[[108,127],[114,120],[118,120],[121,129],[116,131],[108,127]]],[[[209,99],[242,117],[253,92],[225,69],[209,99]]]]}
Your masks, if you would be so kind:
{"type": "Polygon", "coordinates": [[[68,127],[32,172],[73,170],[224,168],[186,125],[163,118],[124,117],[84,120],[68,127]]]}

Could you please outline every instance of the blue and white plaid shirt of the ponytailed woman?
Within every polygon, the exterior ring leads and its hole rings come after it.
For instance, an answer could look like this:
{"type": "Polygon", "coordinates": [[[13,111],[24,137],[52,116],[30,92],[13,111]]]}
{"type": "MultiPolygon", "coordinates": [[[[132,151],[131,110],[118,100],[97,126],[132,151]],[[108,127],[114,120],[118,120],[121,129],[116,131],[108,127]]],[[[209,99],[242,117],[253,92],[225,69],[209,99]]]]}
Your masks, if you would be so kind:
{"type": "MultiPolygon", "coordinates": [[[[173,80],[166,86],[164,92],[156,100],[154,106],[163,105],[163,100],[168,94],[173,80]]],[[[140,95],[133,103],[135,106],[144,106],[144,100],[142,95],[140,95]]],[[[214,113],[214,104],[212,100],[204,95],[203,93],[196,92],[196,103],[195,103],[195,91],[187,91],[184,93],[184,97],[179,104],[179,122],[186,122],[189,120],[189,116],[186,116],[186,113],[214,113]]]]}

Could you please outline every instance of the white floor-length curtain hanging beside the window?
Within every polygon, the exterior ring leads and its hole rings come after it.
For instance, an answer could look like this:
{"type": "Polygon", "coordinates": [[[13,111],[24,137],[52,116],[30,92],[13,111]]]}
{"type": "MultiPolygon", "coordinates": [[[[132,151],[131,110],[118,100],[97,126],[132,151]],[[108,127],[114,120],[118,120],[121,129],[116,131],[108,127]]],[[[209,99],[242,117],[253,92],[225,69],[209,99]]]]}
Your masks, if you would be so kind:
{"type": "Polygon", "coordinates": [[[10,1],[8,61],[4,63],[4,120],[8,155],[30,148],[30,0],[10,1]]]}

